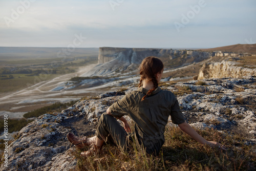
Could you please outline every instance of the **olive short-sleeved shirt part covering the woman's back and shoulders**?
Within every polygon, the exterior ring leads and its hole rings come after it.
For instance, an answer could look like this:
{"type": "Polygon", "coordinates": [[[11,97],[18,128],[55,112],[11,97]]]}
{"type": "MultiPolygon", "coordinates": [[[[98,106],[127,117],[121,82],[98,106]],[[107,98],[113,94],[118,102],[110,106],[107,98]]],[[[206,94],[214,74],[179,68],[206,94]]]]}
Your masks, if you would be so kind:
{"type": "Polygon", "coordinates": [[[162,135],[169,116],[175,124],[184,122],[178,101],[172,92],[158,87],[142,101],[146,93],[147,90],[141,87],[127,94],[111,106],[111,112],[115,116],[117,113],[119,116],[129,115],[136,123],[141,137],[157,138],[162,135]]]}

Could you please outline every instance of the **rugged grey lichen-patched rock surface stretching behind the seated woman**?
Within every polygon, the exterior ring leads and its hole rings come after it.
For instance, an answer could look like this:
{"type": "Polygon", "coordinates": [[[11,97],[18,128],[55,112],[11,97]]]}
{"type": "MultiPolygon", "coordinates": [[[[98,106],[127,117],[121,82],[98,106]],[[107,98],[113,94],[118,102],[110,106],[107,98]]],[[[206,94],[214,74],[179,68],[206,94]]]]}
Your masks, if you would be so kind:
{"type": "MultiPolygon", "coordinates": [[[[204,79],[165,85],[172,91],[186,121],[198,129],[210,127],[224,134],[238,132],[255,144],[256,79],[204,79]]],[[[136,90],[129,87],[125,93],[136,90]]],[[[124,96],[105,93],[95,99],[80,100],[60,113],[45,114],[29,123],[9,145],[8,168],[1,170],[71,170],[76,167],[75,148],[67,140],[68,132],[94,135],[98,118],[108,107],[124,96]]],[[[127,118],[129,119],[129,118],[127,118]]],[[[170,121],[171,122],[171,121],[170,121]]]]}

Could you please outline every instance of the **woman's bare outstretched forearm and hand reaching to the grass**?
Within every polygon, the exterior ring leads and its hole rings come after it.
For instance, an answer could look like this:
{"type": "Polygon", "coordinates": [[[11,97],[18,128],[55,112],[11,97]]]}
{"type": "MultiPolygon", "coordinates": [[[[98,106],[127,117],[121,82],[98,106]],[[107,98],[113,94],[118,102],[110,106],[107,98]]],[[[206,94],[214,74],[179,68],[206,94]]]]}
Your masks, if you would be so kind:
{"type": "Polygon", "coordinates": [[[187,133],[190,137],[192,137],[194,140],[200,142],[201,144],[208,144],[211,147],[219,146],[219,148],[226,150],[226,147],[218,142],[215,141],[207,141],[205,140],[201,135],[199,135],[187,122],[183,122],[181,124],[178,124],[180,129],[187,133]]]}

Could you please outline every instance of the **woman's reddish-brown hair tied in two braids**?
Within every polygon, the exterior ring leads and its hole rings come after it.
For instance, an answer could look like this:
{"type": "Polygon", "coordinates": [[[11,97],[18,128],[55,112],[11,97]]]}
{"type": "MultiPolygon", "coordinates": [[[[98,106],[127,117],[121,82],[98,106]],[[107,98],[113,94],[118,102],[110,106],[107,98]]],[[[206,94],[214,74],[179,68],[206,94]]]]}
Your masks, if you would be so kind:
{"type": "Polygon", "coordinates": [[[156,78],[156,74],[163,70],[163,62],[154,57],[149,56],[142,60],[140,64],[140,83],[139,87],[143,85],[144,79],[150,79],[153,84],[154,88],[149,90],[147,94],[142,98],[142,101],[146,98],[146,96],[150,96],[152,92],[154,92],[158,87],[158,81],[156,78]]]}

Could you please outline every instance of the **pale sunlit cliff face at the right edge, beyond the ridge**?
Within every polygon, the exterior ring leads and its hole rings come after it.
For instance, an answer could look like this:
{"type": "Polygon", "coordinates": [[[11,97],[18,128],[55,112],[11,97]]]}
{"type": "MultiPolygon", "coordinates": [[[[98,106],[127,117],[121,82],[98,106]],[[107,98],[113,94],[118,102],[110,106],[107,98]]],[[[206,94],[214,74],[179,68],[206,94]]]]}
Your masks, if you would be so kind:
{"type": "Polygon", "coordinates": [[[256,76],[256,69],[237,67],[238,64],[240,63],[224,60],[222,62],[204,63],[199,71],[198,79],[256,76]]]}

